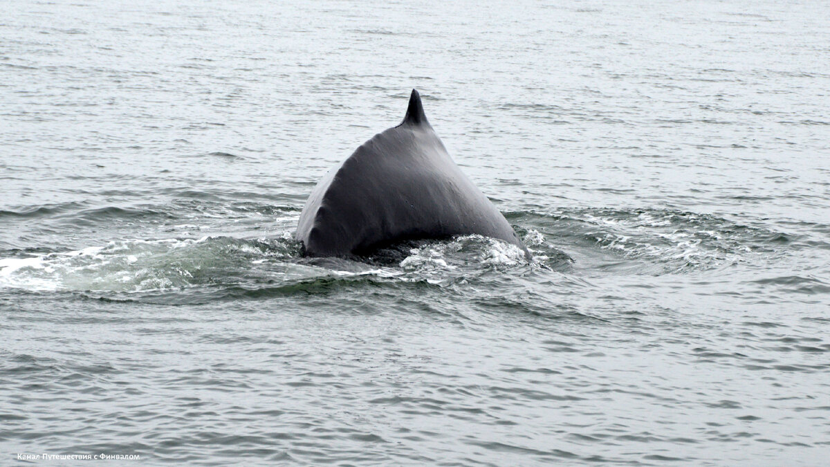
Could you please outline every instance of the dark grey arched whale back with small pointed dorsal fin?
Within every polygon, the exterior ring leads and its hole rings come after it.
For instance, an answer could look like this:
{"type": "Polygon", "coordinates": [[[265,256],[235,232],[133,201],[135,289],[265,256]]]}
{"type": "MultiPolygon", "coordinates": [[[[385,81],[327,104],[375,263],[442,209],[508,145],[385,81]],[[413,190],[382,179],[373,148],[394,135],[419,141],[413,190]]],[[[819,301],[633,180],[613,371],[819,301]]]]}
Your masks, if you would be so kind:
{"type": "Polygon", "coordinates": [[[481,234],[528,255],[510,224],[447,154],[413,89],[400,125],[330,170],[305,202],[306,256],[360,256],[398,241],[481,234]]]}

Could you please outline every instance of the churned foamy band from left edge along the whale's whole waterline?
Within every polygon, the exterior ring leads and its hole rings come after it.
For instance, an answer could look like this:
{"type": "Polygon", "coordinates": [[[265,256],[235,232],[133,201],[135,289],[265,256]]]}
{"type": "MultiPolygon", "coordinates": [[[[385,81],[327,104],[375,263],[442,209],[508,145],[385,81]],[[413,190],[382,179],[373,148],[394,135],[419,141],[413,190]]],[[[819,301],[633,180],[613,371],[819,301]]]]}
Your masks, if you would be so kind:
{"type": "MultiPolygon", "coordinates": [[[[540,232],[530,237],[534,243],[545,243],[540,232]]],[[[444,286],[475,280],[492,270],[546,268],[545,263],[556,261],[547,253],[541,252],[528,263],[524,251],[515,245],[481,235],[400,243],[371,257],[352,259],[301,258],[300,243],[287,232],[280,238],[259,239],[130,239],[66,252],[2,258],[0,288],[103,292],[99,298],[117,301],[146,302],[159,296],[176,303],[228,294],[290,294],[305,290],[304,281],[322,278],[360,277],[444,286]],[[185,289],[188,292],[183,292],[185,289]],[[136,292],[141,296],[134,296],[136,292]]]]}

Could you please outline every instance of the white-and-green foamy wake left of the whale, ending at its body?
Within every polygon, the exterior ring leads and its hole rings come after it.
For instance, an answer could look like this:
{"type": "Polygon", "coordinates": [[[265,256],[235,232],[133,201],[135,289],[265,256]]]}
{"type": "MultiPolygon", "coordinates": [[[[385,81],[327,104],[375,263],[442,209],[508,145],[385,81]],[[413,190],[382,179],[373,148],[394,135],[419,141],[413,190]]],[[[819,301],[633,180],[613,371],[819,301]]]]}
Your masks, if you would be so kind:
{"type": "Polygon", "coordinates": [[[0,259],[0,287],[35,291],[140,292],[241,282],[256,273],[299,276],[251,264],[298,255],[290,238],[122,240],[29,258],[0,259]]]}

